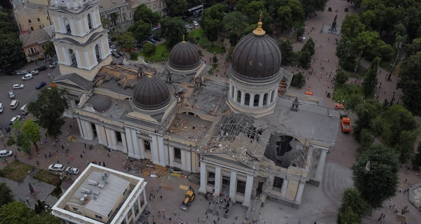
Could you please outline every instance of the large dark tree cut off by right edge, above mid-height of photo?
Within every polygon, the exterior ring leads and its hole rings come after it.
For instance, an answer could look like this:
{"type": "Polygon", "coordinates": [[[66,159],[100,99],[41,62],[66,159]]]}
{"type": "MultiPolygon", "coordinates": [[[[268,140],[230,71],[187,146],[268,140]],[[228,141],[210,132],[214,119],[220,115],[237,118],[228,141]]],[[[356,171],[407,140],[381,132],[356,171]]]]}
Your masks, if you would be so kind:
{"type": "Polygon", "coordinates": [[[403,92],[402,101],[414,116],[421,115],[421,52],[403,61],[397,87],[403,92]]]}

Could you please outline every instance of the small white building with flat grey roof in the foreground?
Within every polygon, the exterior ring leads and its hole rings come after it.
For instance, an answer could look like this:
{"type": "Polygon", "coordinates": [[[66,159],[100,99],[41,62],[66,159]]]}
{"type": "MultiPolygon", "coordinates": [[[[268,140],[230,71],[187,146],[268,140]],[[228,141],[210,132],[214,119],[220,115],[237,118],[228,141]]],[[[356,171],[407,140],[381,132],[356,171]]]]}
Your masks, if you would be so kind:
{"type": "Polygon", "coordinates": [[[144,179],[90,164],[53,206],[65,224],[133,223],[147,206],[144,179]]]}

